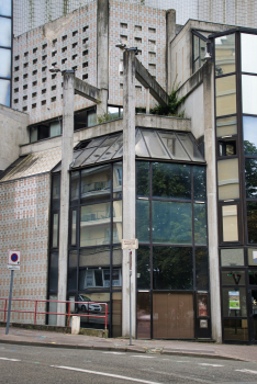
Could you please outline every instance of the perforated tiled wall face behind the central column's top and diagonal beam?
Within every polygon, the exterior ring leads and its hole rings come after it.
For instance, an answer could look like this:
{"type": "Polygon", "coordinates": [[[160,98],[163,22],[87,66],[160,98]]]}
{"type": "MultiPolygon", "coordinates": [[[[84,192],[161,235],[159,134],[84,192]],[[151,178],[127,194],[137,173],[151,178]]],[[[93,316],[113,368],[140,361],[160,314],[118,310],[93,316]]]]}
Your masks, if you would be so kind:
{"type": "MultiPolygon", "coordinates": [[[[115,48],[118,41],[138,48],[137,58],[165,88],[166,12],[138,4],[110,1],[110,90],[109,103],[123,104],[122,52],[115,48]]],[[[152,98],[152,106],[155,105],[152,98]]],[[[146,106],[144,87],[136,81],[136,106],[146,106]]]]}

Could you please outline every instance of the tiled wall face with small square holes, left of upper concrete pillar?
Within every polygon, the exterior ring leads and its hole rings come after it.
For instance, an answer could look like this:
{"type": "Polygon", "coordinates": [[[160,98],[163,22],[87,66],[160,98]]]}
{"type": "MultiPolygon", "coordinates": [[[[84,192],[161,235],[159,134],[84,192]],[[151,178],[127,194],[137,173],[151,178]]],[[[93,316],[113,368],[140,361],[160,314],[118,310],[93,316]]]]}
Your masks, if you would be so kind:
{"type": "MultiPolygon", "coordinates": [[[[97,86],[96,2],[14,38],[12,106],[29,113],[30,124],[63,114],[63,76],[49,72],[53,64],[97,86]]],[[[75,97],[75,110],[90,105],[75,97]]]]}

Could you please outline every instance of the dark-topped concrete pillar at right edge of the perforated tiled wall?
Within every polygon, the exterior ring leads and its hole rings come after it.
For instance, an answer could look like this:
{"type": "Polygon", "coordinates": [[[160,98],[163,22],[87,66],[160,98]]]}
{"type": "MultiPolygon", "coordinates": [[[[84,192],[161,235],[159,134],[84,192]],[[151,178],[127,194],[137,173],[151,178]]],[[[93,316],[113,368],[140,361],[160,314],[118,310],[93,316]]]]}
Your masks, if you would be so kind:
{"type": "Polygon", "coordinates": [[[176,36],[176,10],[166,11],[166,92],[171,93],[171,41],[176,36]]]}

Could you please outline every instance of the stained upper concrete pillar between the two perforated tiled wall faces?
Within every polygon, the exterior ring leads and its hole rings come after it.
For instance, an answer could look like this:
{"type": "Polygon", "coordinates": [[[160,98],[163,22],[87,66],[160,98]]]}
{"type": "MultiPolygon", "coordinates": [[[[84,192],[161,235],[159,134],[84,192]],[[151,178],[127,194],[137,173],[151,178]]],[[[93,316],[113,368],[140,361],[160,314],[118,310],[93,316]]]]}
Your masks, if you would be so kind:
{"type": "Polygon", "coordinates": [[[98,88],[102,92],[97,114],[108,111],[109,91],[109,0],[98,0],[97,10],[98,88]]]}

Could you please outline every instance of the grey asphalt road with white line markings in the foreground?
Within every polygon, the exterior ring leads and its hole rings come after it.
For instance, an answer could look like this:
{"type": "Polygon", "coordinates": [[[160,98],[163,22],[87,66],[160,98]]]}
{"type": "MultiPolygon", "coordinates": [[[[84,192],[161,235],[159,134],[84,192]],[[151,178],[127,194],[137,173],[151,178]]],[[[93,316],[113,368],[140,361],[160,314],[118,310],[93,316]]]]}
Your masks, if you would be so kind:
{"type": "Polygon", "coordinates": [[[257,383],[253,362],[0,343],[0,383],[257,383]]]}

